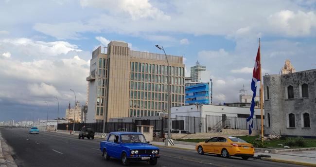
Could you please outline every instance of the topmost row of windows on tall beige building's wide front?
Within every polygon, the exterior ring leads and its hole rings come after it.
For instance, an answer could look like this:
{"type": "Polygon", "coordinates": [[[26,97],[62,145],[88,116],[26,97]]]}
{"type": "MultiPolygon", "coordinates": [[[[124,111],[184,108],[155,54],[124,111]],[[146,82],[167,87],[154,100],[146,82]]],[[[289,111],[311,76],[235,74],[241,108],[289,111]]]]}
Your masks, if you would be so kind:
{"type": "MultiPolygon", "coordinates": [[[[147,64],[139,62],[131,62],[132,72],[148,73],[148,74],[167,74],[167,66],[157,64],[147,64]]],[[[183,67],[169,66],[170,76],[184,76],[183,67]]]]}

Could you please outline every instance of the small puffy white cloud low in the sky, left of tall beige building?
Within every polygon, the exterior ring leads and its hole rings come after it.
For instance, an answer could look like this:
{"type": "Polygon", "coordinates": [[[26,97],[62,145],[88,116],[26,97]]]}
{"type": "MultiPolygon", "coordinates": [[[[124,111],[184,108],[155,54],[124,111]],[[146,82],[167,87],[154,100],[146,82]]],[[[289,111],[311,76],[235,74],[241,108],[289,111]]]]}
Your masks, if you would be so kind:
{"type": "Polygon", "coordinates": [[[28,84],[28,90],[32,95],[35,96],[57,96],[59,95],[58,91],[53,85],[48,85],[46,83],[38,84],[28,84]]]}

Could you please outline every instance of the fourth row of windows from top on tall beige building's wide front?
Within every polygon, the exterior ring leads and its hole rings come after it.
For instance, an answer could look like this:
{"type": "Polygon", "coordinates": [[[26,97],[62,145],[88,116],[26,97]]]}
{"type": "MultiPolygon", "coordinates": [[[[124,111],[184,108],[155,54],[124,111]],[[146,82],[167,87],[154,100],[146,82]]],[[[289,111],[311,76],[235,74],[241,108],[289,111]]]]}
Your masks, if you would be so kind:
{"type": "MultiPolygon", "coordinates": [[[[131,99],[142,99],[142,100],[158,100],[158,101],[167,101],[168,93],[150,93],[150,92],[140,92],[140,91],[130,91],[129,98],[131,99]]],[[[171,94],[172,102],[183,102],[184,95],[180,94],[171,94]]]]}

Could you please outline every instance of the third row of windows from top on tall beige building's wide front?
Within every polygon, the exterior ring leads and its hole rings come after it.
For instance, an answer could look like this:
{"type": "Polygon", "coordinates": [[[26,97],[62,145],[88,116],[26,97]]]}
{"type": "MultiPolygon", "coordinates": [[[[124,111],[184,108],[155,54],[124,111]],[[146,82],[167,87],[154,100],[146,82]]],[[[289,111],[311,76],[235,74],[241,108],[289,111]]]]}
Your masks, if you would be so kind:
{"type": "MultiPolygon", "coordinates": [[[[171,93],[184,93],[184,86],[170,85],[171,93]]],[[[146,82],[133,82],[130,81],[131,90],[142,90],[142,91],[155,91],[155,92],[168,92],[168,85],[163,84],[150,84],[146,82]]]]}

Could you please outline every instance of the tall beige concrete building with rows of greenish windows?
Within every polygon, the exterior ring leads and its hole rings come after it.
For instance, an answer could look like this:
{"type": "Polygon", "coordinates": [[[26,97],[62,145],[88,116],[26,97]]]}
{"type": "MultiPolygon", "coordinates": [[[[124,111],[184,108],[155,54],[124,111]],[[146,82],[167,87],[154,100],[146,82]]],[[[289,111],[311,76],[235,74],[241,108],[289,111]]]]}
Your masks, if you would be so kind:
{"type": "MultiPolygon", "coordinates": [[[[171,106],[184,105],[185,65],[182,56],[170,56],[171,106]]],[[[167,110],[165,55],[131,51],[127,43],[111,41],[99,47],[90,61],[88,120],[154,116],[167,110]]]]}

